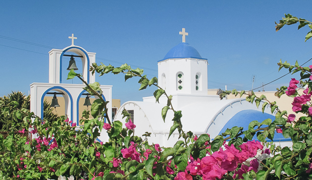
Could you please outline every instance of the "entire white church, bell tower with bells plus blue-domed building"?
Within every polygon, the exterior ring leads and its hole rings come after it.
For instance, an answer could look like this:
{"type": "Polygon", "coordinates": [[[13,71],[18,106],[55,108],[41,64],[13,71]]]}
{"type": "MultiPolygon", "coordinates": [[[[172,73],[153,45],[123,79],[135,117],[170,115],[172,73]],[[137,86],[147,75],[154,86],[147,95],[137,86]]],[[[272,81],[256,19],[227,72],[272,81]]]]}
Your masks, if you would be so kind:
{"type": "MultiPolygon", "coordinates": [[[[185,132],[192,131],[197,136],[208,133],[213,139],[233,126],[244,127],[246,130],[253,120],[261,122],[268,118],[275,119],[274,115],[277,112],[272,115],[268,106],[262,113],[261,108],[258,109],[255,104],[247,102],[245,98],[220,100],[218,95],[208,95],[208,60],[202,58],[194,47],[185,42],[188,33],[184,28],[179,34],[182,35],[182,43],[170,49],[164,59],[155,62],[155,65],[158,64],[158,85],[166,90],[168,95],[172,95],[171,103],[174,110],[182,111],[181,122],[185,132]]],[[[79,126],[81,125],[79,109],[83,107],[80,101],[88,94],[83,90],[85,85],[68,84],[62,80],[62,77],[67,76],[62,71],[64,68],[66,69],[62,64],[66,61],[64,57],[71,57],[67,70],[81,68],[82,78],[91,84],[96,82],[95,75],[89,71],[90,65],[95,62],[96,53],[87,52],[84,48],[74,45],[74,39],[77,39],[74,34],[68,38],[72,39],[70,46],[64,49],[52,49],[49,52],[49,83],[32,83],[30,85],[30,111],[44,118],[45,96],[54,94],[55,101],[57,101],[57,96],[62,96],[65,101],[65,105],[62,107],[65,114],[72,123],[79,126]],[[71,67],[75,58],[82,61],[80,67],[76,67],[76,65],[71,67]]],[[[112,102],[113,86],[101,85],[100,88],[103,91],[102,97],[112,102]]],[[[262,106],[262,103],[259,107],[262,106]]],[[[57,105],[54,104],[54,107],[58,107],[57,105]]],[[[174,145],[179,135],[176,130],[168,139],[170,127],[173,124],[171,121],[173,112],[168,111],[166,122],[164,122],[162,108],[166,105],[167,98],[165,96],[159,98],[159,103],[156,102],[154,96],[143,97],[143,101],[128,101],[121,105],[113,120],[120,120],[124,124],[125,119],[122,119],[121,112],[126,109],[132,114],[132,120],[137,126],[135,135],[142,136],[146,131],[151,132],[151,137],[148,137],[150,143],[170,147],[174,145]]],[[[112,117],[111,103],[108,103],[108,115],[112,117]]],[[[77,130],[79,129],[77,127],[77,130]]],[[[105,129],[102,130],[101,136],[97,140],[108,140],[105,129]]],[[[274,142],[285,146],[287,141],[289,139],[284,139],[282,134],[276,133],[274,142]]]]}

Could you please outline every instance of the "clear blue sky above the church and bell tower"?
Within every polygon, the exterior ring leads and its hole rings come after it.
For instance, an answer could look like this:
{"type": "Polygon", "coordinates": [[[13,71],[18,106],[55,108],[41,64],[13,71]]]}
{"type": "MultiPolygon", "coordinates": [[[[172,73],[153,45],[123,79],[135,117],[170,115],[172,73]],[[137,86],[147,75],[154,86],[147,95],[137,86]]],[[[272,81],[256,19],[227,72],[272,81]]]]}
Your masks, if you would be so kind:
{"type": "MultiPolygon", "coordinates": [[[[253,76],[256,88],[287,73],[278,73],[280,59],[302,64],[312,58],[312,40],[304,42],[308,27],[275,32],[274,24],[284,13],[312,21],[310,7],[311,0],[2,0],[0,96],[28,94],[31,83],[48,83],[48,52],[70,46],[72,33],[75,45],[97,53],[97,63],[128,63],[157,76],[157,61],[182,41],[182,28],[189,33],[186,42],[208,59],[209,89],[250,90],[253,76]]],[[[264,90],[287,86],[291,77],[264,90]]],[[[113,85],[113,98],[121,103],[153,94],[155,88],[138,91],[138,80],[96,78],[113,85]]]]}

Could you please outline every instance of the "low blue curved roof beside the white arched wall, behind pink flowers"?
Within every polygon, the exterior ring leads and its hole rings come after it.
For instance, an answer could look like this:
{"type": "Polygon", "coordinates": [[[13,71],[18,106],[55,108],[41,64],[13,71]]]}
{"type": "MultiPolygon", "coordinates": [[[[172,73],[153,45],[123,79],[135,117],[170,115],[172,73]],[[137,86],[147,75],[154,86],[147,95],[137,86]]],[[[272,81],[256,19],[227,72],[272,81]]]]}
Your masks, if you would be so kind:
{"type": "MultiPolygon", "coordinates": [[[[273,122],[275,120],[275,116],[267,114],[267,113],[262,113],[256,110],[243,110],[243,111],[238,112],[230,120],[228,120],[226,125],[219,132],[219,134],[226,132],[227,128],[230,129],[234,126],[243,127],[244,128],[243,130],[248,130],[248,126],[251,121],[257,120],[261,123],[263,120],[266,120],[266,119],[271,119],[273,122]]],[[[267,127],[267,126],[262,125],[261,127],[267,127]]],[[[256,137],[256,133],[255,133],[253,140],[258,140],[256,137]]],[[[268,142],[271,142],[269,138],[266,138],[265,140],[268,142]]],[[[291,141],[291,139],[290,138],[285,139],[282,133],[275,132],[273,141],[274,142],[291,141]]]]}

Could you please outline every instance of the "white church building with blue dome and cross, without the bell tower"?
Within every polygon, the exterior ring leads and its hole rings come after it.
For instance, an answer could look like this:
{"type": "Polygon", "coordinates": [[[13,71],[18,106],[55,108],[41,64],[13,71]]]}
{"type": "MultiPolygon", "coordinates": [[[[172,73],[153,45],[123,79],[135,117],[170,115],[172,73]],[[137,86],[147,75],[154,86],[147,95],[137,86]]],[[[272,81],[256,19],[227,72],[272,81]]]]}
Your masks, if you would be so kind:
{"type": "MultiPolygon", "coordinates": [[[[220,100],[217,94],[208,95],[208,60],[202,58],[194,47],[185,42],[188,33],[184,28],[179,34],[182,35],[182,43],[170,49],[163,60],[157,61],[158,85],[166,90],[168,95],[172,95],[174,110],[182,111],[181,122],[185,132],[192,131],[197,136],[208,133],[213,139],[233,126],[244,127],[246,130],[253,120],[275,120],[277,112],[272,115],[270,107],[267,106],[262,113],[263,102],[258,109],[255,103],[251,104],[245,98],[220,100]]],[[[168,111],[164,122],[162,108],[165,106],[165,95],[160,97],[159,103],[154,96],[143,97],[143,101],[128,101],[121,105],[114,120],[122,120],[121,112],[126,109],[132,114],[133,122],[137,126],[135,135],[142,136],[146,131],[151,132],[151,137],[148,138],[150,143],[172,147],[179,134],[175,130],[168,139],[173,124],[173,112],[168,111]]],[[[125,119],[122,122],[125,123],[125,119]]],[[[284,139],[282,134],[275,134],[274,142],[283,146],[289,141],[284,139]]]]}

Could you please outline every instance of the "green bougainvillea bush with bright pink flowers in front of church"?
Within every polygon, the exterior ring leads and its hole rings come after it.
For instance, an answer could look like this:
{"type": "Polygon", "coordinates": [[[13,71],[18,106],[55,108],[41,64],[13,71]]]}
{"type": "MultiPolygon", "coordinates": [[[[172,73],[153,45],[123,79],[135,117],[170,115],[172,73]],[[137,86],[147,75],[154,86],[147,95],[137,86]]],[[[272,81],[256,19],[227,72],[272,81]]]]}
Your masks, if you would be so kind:
{"type": "MultiPolygon", "coordinates": [[[[284,25],[299,22],[299,27],[312,23],[306,20],[285,15],[277,24],[279,30],[284,25]]],[[[312,34],[310,31],[308,33],[312,34]]],[[[309,35],[310,36],[310,35],[309,35]]],[[[309,37],[310,38],[310,37],[309,37]]],[[[264,95],[257,97],[248,93],[246,100],[259,106],[264,101],[262,111],[270,106],[272,112],[278,111],[275,120],[251,121],[248,129],[232,127],[226,132],[210,139],[209,134],[194,136],[185,132],[181,124],[182,112],[174,110],[171,98],[157,84],[157,78],[148,80],[142,75],[142,69],[132,69],[123,64],[92,64],[90,71],[99,73],[125,74],[125,80],[138,77],[140,90],[148,86],[156,86],[156,101],[160,96],[168,98],[168,104],[162,110],[166,120],[168,111],[173,111],[170,135],[177,130],[179,141],[172,147],[160,147],[148,142],[150,133],[134,134],[136,124],[130,119],[126,110],[123,115],[126,123],[110,120],[106,105],[101,96],[98,83],[86,84],[80,74],[71,70],[68,79],[80,78],[86,85],[84,88],[91,95],[99,98],[94,101],[90,112],[84,112],[83,126],[63,116],[56,121],[46,121],[20,110],[24,114],[23,129],[31,131],[35,136],[30,142],[11,132],[5,139],[0,136],[0,179],[2,180],[306,180],[312,179],[312,66],[300,66],[297,62],[291,65],[280,61],[281,68],[289,72],[300,73],[301,79],[291,79],[288,87],[278,89],[276,95],[287,95],[293,98],[293,111],[303,113],[287,114],[279,109],[276,102],[270,102],[264,95]],[[304,89],[303,94],[298,89],[304,89]],[[93,119],[86,119],[89,113],[93,119]],[[108,142],[97,142],[101,131],[107,132],[108,142]],[[283,133],[291,138],[292,147],[278,147],[266,142],[273,140],[275,133],[283,133]],[[142,139],[143,137],[143,139],[142,139]],[[257,137],[259,141],[253,140],[257,137]]],[[[233,93],[242,96],[245,91],[224,91],[223,98],[233,93]]],[[[1,107],[1,113],[8,108],[1,107]]],[[[22,117],[18,116],[17,118],[22,117]]],[[[161,121],[161,120],[160,120],[161,121]]]]}

